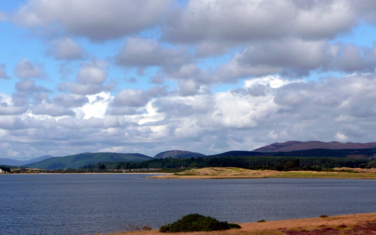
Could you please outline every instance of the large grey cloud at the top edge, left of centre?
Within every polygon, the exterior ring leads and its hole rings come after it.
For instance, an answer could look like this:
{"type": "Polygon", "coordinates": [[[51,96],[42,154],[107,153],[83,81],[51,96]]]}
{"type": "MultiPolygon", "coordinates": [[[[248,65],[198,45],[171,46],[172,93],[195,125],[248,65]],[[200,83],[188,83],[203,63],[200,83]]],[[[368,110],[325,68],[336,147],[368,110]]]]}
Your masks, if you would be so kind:
{"type": "Polygon", "coordinates": [[[69,34],[100,42],[156,26],[170,8],[170,2],[32,0],[20,5],[14,21],[32,29],[57,25],[69,34]]]}

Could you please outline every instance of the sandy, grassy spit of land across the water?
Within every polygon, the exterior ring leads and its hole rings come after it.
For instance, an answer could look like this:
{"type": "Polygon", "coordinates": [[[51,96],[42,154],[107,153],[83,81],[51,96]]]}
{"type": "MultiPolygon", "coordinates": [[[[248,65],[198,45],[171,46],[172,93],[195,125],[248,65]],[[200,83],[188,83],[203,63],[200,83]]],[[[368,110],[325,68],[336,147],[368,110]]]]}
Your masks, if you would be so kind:
{"type": "Polygon", "coordinates": [[[209,167],[189,169],[174,175],[151,176],[148,178],[163,179],[231,179],[231,178],[346,178],[376,179],[376,169],[337,168],[334,172],[247,170],[236,167],[209,167]],[[353,172],[340,172],[353,171],[353,172]]]}

